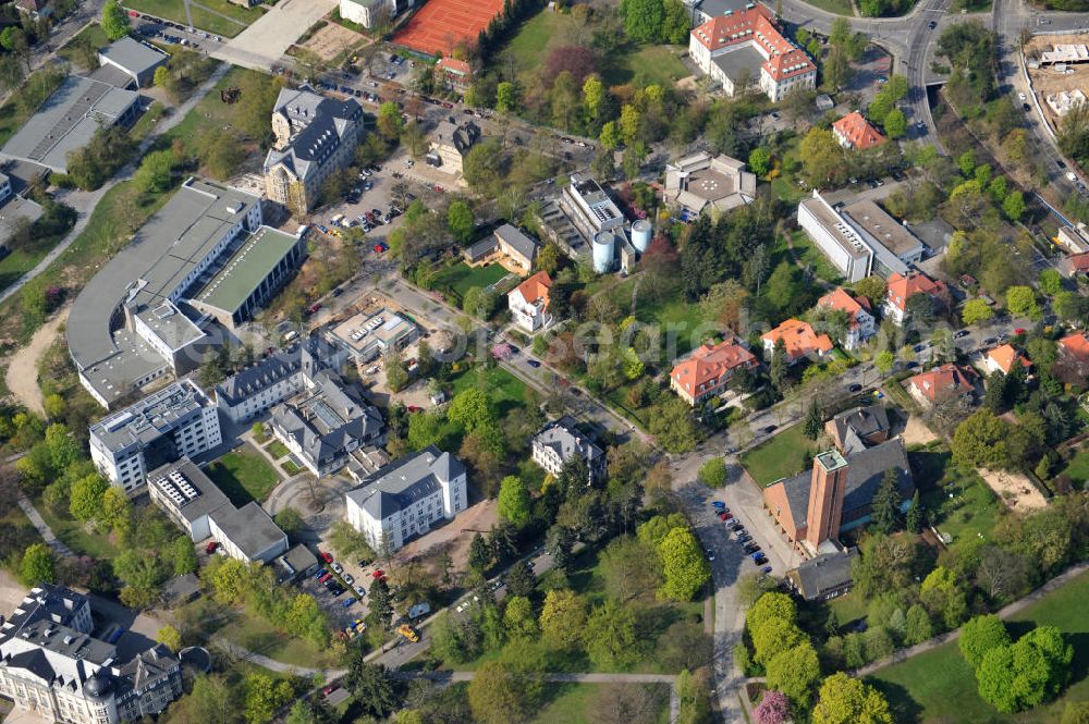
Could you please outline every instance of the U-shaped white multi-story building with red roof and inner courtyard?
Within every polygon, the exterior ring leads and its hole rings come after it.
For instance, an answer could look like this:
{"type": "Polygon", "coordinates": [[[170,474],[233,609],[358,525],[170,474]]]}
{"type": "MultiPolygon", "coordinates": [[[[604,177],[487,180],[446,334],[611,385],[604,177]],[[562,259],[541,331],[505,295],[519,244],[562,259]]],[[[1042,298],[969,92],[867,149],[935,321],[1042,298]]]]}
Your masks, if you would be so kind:
{"type": "Polygon", "coordinates": [[[688,54],[731,96],[746,83],[759,84],[773,101],[796,88],[817,87],[817,66],[783,37],[771,11],[761,4],[712,17],[693,29],[688,54]]]}

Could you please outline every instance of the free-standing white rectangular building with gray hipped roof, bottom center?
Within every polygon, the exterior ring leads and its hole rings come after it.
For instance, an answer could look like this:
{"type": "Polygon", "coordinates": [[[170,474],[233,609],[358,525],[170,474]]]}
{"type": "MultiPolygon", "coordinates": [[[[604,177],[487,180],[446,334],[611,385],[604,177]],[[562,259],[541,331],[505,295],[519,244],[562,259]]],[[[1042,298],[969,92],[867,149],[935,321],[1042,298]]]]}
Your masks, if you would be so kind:
{"type": "Polygon", "coordinates": [[[468,506],[465,466],[430,445],[376,470],[344,496],[347,521],[376,551],[397,551],[468,506]]]}

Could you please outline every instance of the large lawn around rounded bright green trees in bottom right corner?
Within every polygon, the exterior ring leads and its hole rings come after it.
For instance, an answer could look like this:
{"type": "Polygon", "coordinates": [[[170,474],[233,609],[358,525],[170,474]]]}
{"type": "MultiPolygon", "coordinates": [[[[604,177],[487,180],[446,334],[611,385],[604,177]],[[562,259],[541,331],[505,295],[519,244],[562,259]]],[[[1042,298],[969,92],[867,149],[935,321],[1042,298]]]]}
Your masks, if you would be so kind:
{"type": "MultiPolygon", "coordinates": [[[[1030,625],[1057,626],[1074,645],[1072,684],[1059,701],[1020,714],[1000,714],[979,698],[975,676],[956,642],[940,646],[869,677],[889,697],[896,722],[910,724],[1045,724],[1057,722],[1067,701],[1089,698],[1089,574],[1082,574],[1043,600],[1011,617],[1013,636],[1030,625]],[[1020,624],[1020,625],[1017,625],[1020,624]]],[[[1007,622],[1010,623],[1010,622],[1007,622]]]]}

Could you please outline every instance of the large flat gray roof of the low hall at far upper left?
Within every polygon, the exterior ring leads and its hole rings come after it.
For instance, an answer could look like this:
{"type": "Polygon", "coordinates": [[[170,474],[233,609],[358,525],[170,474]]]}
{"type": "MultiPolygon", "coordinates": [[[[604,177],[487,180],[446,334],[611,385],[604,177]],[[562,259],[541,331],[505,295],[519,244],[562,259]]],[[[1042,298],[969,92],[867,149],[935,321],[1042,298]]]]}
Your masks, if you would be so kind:
{"type": "Polygon", "coordinates": [[[4,144],[3,154],[63,172],[70,151],[83,148],[100,123],[117,123],[138,100],[132,90],[70,75],[4,144]]]}

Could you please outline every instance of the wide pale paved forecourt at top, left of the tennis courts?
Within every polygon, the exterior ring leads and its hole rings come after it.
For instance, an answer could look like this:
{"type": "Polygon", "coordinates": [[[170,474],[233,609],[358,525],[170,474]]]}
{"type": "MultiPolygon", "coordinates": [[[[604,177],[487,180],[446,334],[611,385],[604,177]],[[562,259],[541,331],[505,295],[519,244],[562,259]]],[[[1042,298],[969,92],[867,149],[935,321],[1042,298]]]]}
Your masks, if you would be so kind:
{"type": "Polygon", "coordinates": [[[212,58],[255,71],[268,71],[311,25],[337,7],[337,0],[281,0],[212,58]]]}

